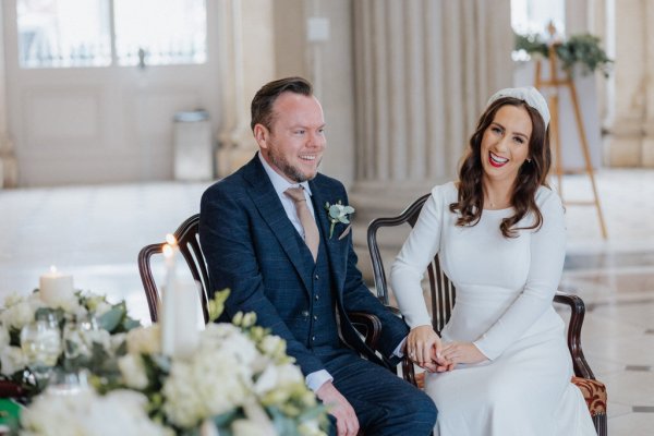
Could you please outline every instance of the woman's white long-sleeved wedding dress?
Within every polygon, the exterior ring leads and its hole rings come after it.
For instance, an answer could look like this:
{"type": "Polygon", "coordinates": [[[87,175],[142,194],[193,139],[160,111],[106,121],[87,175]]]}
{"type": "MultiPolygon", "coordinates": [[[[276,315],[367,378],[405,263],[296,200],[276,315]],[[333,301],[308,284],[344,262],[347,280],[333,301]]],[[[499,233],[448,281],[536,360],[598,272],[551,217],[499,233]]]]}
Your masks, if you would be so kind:
{"type": "MultiPolygon", "coordinates": [[[[473,342],[488,358],[455,371],[427,374],[425,390],[438,409],[435,436],[595,435],[580,390],[565,323],[552,300],[562,272],[564,209],[541,187],[540,230],[504,238],[499,225],[512,209],[483,210],[476,226],[457,227],[449,205],[453,183],[434,187],[391,268],[391,286],[410,327],[431,325],[421,279],[439,254],[457,288],[444,342],[473,342]]],[[[529,226],[532,217],[521,222],[529,226]]]]}

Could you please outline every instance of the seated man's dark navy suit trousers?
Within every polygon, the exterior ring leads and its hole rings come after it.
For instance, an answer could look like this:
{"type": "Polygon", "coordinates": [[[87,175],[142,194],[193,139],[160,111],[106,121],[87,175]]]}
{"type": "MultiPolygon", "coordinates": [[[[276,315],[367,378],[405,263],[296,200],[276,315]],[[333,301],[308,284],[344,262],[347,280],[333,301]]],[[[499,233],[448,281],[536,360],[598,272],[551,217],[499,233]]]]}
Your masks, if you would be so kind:
{"type": "MultiPolygon", "coordinates": [[[[334,377],[334,386],[356,412],[366,436],[432,434],[436,405],[423,391],[349,349],[319,358],[334,377]]],[[[336,435],[336,424],[329,417],[329,434],[336,435]]]]}

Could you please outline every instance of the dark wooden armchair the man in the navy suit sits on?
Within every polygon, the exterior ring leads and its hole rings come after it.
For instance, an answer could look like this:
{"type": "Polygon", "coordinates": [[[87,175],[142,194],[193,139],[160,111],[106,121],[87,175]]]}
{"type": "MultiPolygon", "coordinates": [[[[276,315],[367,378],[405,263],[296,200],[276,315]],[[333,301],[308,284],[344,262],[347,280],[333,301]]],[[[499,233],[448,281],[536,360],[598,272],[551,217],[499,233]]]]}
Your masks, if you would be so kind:
{"type": "MultiPolygon", "coordinates": [[[[191,270],[193,279],[201,283],[202,291],[199,292],[202,312],[204,314],[205,323],[209,320],[209,311],[207,306],[208,298],[213,292],[209,288],[209,274],[207,270],[207,264],[199,246],[199,214],[193,215],[180,225],[174,231],[174,238],[178,241],[180,253],[184,256],[186,265],[191,270]]],[[[144,246],[138,253],[138,271],[141,274],[141,280],[143,281],[143,289],[145,290],[145,296],[147,299],[147,305],[149,307],[150,319],[156,323],[158,319],[158,307],[159,307],[159,292],[157,290],[157,283],[152,270],[152,257],[155,254],[161,254],[165,242],[158,244],[150,244],[144,246]]],[[[374,315],[365,313],[350,313],[349,314],[352,324],[358,331],[365,339],[368,347],[377,343],[379,334],[382,331],[382,323],[379,318],[374,315]]]]}

